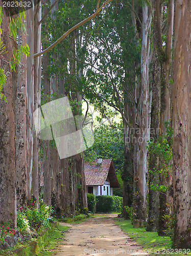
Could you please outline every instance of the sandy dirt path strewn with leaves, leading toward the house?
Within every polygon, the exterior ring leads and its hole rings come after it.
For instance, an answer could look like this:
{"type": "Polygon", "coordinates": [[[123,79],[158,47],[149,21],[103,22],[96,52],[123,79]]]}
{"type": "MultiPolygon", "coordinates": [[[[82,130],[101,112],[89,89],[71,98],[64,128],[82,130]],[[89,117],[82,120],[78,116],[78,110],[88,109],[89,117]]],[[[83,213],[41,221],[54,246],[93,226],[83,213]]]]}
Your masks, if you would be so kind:
{"type": "Polygon", "coordinates": [[[80,224],[63,224],[71,228],[57,256],[79,255],[136,255],[148,253],[142,250],[120,227],[114,224],[117,215],[102,215],[80,224]]]}

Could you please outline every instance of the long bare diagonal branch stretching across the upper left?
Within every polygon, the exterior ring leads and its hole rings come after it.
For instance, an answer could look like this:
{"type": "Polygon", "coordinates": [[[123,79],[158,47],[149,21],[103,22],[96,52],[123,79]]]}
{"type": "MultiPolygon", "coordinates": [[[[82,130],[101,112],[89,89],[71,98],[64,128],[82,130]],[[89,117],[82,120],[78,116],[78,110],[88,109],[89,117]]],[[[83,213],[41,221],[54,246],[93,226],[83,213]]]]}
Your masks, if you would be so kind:
{"type": "Polygon", "coordinates": [[[45,50],[43,50],[42,52],[39,53],[35,53],[34,54],[34,58],[49,52],[51,49],[53,49],[56,45],[58,45],[58,43],[60,41],[62,41],[69,33],[71,33],[72,31],[74,31],[75,29],[77,29],[78,27],[82,26],[83,24],[85,24],[86,22],[88,22],[90,19],[92,19],[93,17],[95,17],[101,10],[102,8],[104,8],[104,6],[106,6],[107,4],[109,4],[112,0],[106,0],[104,2],[104,4],[99,8],[99,3],[100,0],[98,0],[98,4],[97,4],[97,9],[96,12],[94,12],[91,16],[89,16],[88,18],[85,18],[84,20],[82,20],[82,22],[78,23],[77,25],[75,25],[74,27],[70,28],[67,32],[65,32],[57,41],[54,42],[54,44],[52,44],[50,47],[46,48],[45,50]]]}

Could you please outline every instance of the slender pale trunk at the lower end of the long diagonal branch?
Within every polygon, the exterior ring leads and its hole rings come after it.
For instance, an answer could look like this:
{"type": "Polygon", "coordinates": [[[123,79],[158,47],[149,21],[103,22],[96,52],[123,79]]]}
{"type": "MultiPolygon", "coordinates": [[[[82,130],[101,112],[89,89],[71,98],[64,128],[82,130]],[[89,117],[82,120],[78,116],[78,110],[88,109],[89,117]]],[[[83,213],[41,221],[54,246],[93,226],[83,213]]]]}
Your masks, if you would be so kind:
{"type": "MultiPolygon", "coordinates": [[[[34,53],[41,50],[41,1],[35,6],[35,20],[34,20],[34,53]]],[[[34,59],[34,111],[38,109],[40,105],[41,96],[41,57],[34,59]]],[[[33,141],[33,173],[32,173],[32,185],[33,185],[33,197],[36,201],[38,208],[39,205],[39,175],[38,175],[38,138],[35,136],[33,141]]]]}

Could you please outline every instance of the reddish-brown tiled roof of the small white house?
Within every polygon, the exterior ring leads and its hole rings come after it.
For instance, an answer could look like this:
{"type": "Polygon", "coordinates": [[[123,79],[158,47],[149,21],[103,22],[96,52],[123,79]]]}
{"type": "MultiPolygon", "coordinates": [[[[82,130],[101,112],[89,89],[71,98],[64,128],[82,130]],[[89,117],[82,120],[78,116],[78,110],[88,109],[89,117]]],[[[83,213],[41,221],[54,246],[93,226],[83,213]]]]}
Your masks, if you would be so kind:
{"type": "Polygon", "coordinates": [[[97,160],[93,160],[90,163],[85,162],[84,174],[86,185],[103,185],[108,177],[111,187],[120,187],[120,184],[118,183],[116,177],[112,159],[102,159],[101,164],[98,164],[97,160]]]}

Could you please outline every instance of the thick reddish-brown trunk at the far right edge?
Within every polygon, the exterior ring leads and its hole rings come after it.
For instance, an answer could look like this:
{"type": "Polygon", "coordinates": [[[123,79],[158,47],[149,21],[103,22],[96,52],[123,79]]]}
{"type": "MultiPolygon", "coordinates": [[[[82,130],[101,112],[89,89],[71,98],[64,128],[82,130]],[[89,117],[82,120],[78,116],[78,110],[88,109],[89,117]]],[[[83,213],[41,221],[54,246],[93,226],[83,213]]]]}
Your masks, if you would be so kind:
{"type": "Polygon", "coordinates": [[[175,60],[173,88],[174,244],[190,248],[191,233],[191,2],[175,2],[175,60]]]}

